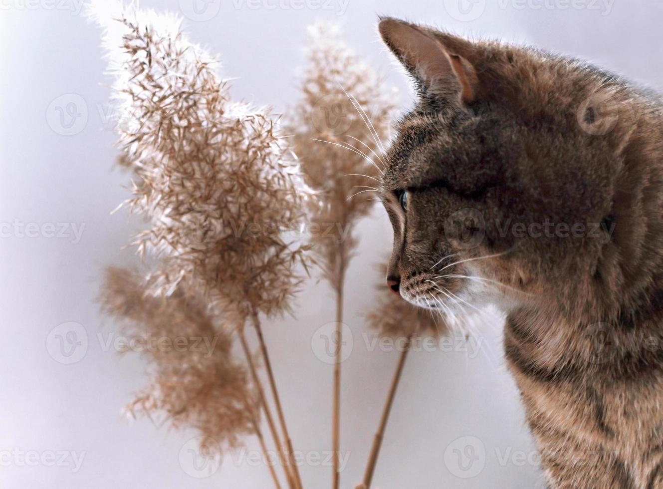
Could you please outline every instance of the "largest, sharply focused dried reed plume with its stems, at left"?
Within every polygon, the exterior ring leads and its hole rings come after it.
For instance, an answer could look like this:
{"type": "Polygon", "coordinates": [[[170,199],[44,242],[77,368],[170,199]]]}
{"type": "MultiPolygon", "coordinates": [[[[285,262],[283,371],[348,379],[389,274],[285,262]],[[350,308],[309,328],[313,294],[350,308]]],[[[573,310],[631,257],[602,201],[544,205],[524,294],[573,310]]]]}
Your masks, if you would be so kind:
{"type": "MultiPolygon", "coordinates": [[[[180,31],[176,17],[95,0],[117,102],[120,162],[133,171],[126,204],[149,221],[134,244],[156,270],[145,291],[180,287],[208,297],[246,346],[258,334],[283,441],[276,433],[247,348],[247,362],[291,487],[299,487],[292,444],[263,340],[259,314],[289,308],[306,267],[297,244],[311,193],[266,110],[231,102],[216,62],[180,31]]],[[[278,483],[276,483],[278,485],[278,483]]]]}

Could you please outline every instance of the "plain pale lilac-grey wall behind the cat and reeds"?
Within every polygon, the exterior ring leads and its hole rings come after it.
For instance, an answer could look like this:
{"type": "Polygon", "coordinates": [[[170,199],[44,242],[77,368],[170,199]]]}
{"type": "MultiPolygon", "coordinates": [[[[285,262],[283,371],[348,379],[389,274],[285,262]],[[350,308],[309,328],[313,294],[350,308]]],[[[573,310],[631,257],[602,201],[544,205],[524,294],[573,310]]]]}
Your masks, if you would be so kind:
{"type": "MultiPolygon", "coordinates": [[[[407,107],[408,84],[375,34],[377,13],[581,56],[654,87],[663,80],[658,1],[462,0],[466,16],[457,0],[348,0],[344,11],[337,1],[325,1],[304,3],[301,9],[292,8],[302,5],[297,0],[264,0],[257,8],[240,0],[212,2],[208,7],[218,9],[216,15],[186,19],[184,27],[192,40],[221,54],[223,74],[238,78],[235,98],[272,104],[276,111],[296,100],[294,72],[303,62],[306,26],[318,19],[339,21],[349,44],[387,72],[387,82],[400,88],[400,107],[407,107]]],[[[172,11],[180,11],[179,4],[143,2],[172,11]]],[[[191,11],[188,0],[182,5],[191,11]]],[[[264,466],[232,456],[212,476],[192,478],[179,455],[195,433],[156,427],[148,419],[130,423],[121,413],[145,382],[145,366],[135,354],[119,356],[103,348],[97,334],[106,340],[113,324],[99,316],[94,297],[104,265],[133,259],[121,247],[137,224],[125,212],[109,214],[127,196],[121,188],[127,178],[112,167],[115,135],[105,115],[109,89],[99,31],[77,9],[60,0],[5,0],[0,10],[0,223],[5,230],[0,238],[0,486],[269,487],[264,466]],[[58,127],[54,107],[66,108],[58,99],[63,94],[80,96],[88,111],[74,135],[52,128],[58,127]],[[15,221],[85,227],[80,240],[71,234],[49,237],[48,226],[30,238],[7,226],[15,221]],[[82,325],[78,338],[88,338],[75,364],[58,362],[53,350],[54,334],[68,326],[54,328],[67,322],[82,325]],[[40,459],[26,463],[21,455],[26,452],[40,459]],[[57,459],[59,452],[67,458],[52,466],[49,454],[57,459]],[[78,470],[70,463],[72,452],[84,453],[78,470]]],[[[350,452],[344,488],[361,478],[396,362],[395,352],[369,351],[361,321],[375,294],[373,262],[391,245],[381,210],[361,224],[360,234],[359,258],[347,285],[353,349],[343,363],[341,442],[350,452]]],[[[266,333],[294,445],[324,455],[330,447],[331,365],[318,358],[320,352],[316,356],[315,341],[316,330],[333,320],[333,301],[324,283],[308,285],[298,302],[298,320],[272,322],[266,333]]],[[[483,340],[478,356],[412,354],[375,488],[542,487],[518,393],[504,365],[501,326],[495,314],[477,326],[483,340]],[[454,449],[461,450],[464,462],[454,449]]],[[[256,448],[248,439],[247,449],[256,448]]],[[[328,465],[312,462],[301,470],[307,487],[328,486],[328,465]]]]}

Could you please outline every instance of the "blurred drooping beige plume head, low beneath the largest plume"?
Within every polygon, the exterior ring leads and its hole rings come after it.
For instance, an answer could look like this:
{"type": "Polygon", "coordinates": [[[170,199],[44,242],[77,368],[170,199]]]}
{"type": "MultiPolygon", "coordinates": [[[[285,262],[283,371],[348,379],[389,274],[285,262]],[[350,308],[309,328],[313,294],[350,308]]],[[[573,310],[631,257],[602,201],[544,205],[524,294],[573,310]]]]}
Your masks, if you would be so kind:
{"type": "Polygon", "coordinates": [[[174,427],[197,429],[220,446],[237,445],[241,435],[255,433],[259,405],[246,369],[233,360],[229,332],[201,297],[179,287],[154,297],[146,289],[137,273],[111,267],[101,293],[103,312],[123,324],[126,350],[140,351],[151,364],[149,384],[129,412],[165,415],[174,427]]]}

